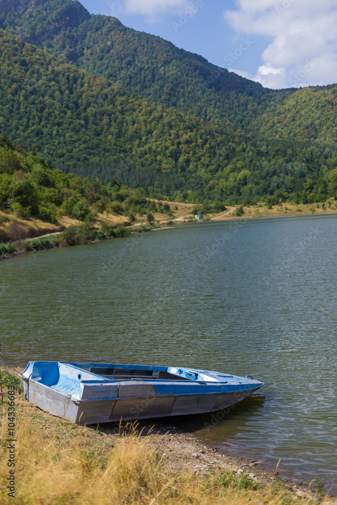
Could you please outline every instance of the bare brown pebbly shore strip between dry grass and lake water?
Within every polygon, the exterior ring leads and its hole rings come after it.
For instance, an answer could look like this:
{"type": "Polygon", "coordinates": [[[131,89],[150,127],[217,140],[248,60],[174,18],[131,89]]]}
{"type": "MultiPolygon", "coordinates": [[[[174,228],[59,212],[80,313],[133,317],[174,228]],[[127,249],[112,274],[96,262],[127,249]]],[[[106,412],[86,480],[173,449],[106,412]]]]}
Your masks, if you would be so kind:
{"type": "MultiPolygon", "coordinates": [[[[321,490],[315,492],[315,484],[291,480],[277,468],[274,471],[266,468],[265,461],[246,459],[238,454],[220,451],[210,444],[206,445],[193,431],[177,428],[173,424],[174,420],[172,422],[169,418],[77,426],[40,410],[25,400],[23,394],[16,394],[16,404],[20,409],[17,423],[20,423],[21,418],[32,422],[37,420],[38,426],[43,425],[43,429],[52,437],[62,427],[63,436],[71,434],[74,437],[77,433],[78,436],[89,439],[91,445],[98,443],[104,446],[107,457],[112,455],[121,436],[128,439],[135,435],[139,441],[139,450],[145,450],[149,455],[155,453],[173,476],[194,474],[198,479],[207,479],[227,473],[232,474],[236,480],[244,479],[245,482],[255,483],[253,485],[258,486],[262,492],[273,487],[280,488],[295,500],[303,499],[317,504],[323,501],[325,505],[337,505],[334,496],[323,494],[321,490]]],[[[42,437],[42,432],[39,436],[42,437]]],[[[74,458],[75,454],[70,453],[70,457],[74,458]]]]}

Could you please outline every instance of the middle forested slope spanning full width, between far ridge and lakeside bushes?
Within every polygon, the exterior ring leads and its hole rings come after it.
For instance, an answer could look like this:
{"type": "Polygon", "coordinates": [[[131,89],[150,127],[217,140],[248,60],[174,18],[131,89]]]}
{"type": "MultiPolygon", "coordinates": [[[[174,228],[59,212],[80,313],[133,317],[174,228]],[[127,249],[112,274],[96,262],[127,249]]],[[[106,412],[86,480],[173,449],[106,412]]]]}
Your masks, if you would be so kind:
{"type": "Polygon", "coordinates": [[[185,201],[323,201],[335,148],[262,142],[140,99],[0,30],[0,131],[55,167],[185,201]]]}

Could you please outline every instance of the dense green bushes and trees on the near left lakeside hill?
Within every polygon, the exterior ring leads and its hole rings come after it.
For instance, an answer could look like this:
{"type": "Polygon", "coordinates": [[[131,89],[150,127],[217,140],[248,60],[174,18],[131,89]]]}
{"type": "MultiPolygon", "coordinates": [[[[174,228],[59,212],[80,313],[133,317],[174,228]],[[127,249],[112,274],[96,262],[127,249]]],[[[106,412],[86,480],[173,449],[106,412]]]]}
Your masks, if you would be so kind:
{"type": "Polygon", "coordinates": [[[26,153],[9,139],[0,137],[0,209],[18,218],[38,218],[57,224],[62,216],[92,225],[98,213],[127,216],[160,211],[170,214],[170,206],[145,197],[112,180],[81,179],[54,169],[36,154],[26,153]]]}

